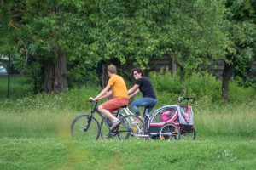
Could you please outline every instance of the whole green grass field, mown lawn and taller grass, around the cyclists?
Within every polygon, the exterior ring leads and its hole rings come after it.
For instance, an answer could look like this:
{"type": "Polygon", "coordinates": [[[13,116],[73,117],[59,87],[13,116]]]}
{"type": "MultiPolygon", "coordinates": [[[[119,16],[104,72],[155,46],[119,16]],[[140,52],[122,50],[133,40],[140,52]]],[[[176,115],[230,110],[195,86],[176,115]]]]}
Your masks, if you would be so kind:
{"type": "MultiPolygon", "coordinates": [[[[195,141],[103,139],[70,134],[99,88],[1,99],[0,169],[255,169],[256,105],[195,101],[195,141]]],[[[167,104],[166,104],[167,105],[167,104]]],[[[159,105],[157,106],[159,107],[159,105]]]]}

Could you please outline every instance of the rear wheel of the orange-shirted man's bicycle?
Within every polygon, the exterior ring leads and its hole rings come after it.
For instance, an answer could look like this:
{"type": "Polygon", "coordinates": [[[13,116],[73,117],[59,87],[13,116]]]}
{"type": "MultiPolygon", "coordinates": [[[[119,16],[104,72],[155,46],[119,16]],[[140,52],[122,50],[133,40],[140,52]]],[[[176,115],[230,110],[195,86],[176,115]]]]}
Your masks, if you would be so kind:
{"type": "MultiPolygon", "coordinates": [[[[120,119],[121,123],[114,129],[120,140],[138,139],[145,134],[145,125],[141,118],[135,115],[124,116],[120,119]],[[133,122],[138,120],[139,123],[133,122]]],[[[142,138],[143,139],[143,138],[142,138]]]]}

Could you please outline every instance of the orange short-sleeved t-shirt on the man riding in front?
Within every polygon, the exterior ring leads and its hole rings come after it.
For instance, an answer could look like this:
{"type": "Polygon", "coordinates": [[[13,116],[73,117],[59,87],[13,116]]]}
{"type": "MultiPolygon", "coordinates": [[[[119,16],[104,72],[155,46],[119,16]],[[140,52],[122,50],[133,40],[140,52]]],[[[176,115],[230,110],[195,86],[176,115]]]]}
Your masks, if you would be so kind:
{"type": "Polygon", "coordinates": [[[123,77],[113,75],[113,77],[110,77],[110,79],[108,80],[108,85],[111,86],[114,98],[128,99],[128,90],[126,88],[125,80],[123,79],[123,77]]]}

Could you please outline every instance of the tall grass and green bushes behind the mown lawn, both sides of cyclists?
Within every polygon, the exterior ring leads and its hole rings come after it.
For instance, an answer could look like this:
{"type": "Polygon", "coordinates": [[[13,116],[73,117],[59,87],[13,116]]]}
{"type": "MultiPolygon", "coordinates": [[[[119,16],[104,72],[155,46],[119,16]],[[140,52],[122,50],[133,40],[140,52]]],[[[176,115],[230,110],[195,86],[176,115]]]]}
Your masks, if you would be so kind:
{"type": "MultiPolygon", "coordinates": [[[[159,103],[177,105],[180,96],[178,78],[166,73],[152,75],[159,103]]],[[[195,96],[193,105],[195,129],[199,137],[239,136],[255,137],[256,105],[255,90],[230,84],[228,104],[218,101],[220,82],[209,74],[195,74],[188,78],[188,93],[195,96]]],[[[90,111],[90,96],[96,96],[100,87],[73,88],[62,94],[38,94],[19,99],[1,99],[1,136],[55,136],[69,133],[75,116],[90,111]]],[[[190,96],[190,95],[189,95],[190,96]]],[[[68,134],[70,136],[70,134],[68,134]]]]}

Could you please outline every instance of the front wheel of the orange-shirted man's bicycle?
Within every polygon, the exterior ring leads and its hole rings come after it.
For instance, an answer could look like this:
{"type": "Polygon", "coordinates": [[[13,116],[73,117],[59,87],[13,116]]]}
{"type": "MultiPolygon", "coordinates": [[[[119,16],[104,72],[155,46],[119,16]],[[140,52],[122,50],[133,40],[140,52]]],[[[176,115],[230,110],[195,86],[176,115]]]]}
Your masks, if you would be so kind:
{"type": "Polygon", "coordinates": [[[77,116],[71,125],[73,139],[91,140],[100,136],[100,125],[96,118],[89,115],[77,116]]]}

